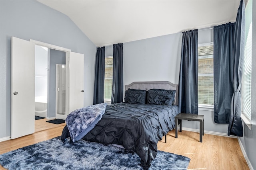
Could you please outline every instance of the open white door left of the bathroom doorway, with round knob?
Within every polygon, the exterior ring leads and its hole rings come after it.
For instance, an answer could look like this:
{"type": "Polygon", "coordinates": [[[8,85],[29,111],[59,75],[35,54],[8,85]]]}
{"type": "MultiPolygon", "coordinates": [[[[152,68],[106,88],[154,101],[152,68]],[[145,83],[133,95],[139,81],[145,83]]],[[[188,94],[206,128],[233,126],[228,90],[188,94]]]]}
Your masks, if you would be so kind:
{"type": "Polygon", "coordinates": [[[12,37],[11,139],[35,131],[35,44],[12,37]]]}

